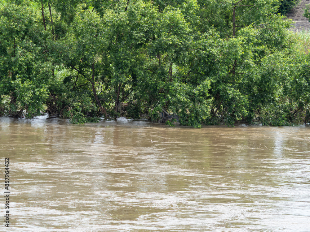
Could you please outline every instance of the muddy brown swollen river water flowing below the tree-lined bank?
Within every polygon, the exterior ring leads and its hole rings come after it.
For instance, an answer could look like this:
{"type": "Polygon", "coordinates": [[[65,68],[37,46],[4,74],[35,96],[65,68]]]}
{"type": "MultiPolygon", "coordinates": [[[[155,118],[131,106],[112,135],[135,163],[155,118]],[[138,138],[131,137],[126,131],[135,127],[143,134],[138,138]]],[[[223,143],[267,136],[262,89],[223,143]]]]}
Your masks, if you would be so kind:
{"type": "Polygon", "coordinates": [[[310,127],[0,117],[22,232],[310,231],[310,127]]]}

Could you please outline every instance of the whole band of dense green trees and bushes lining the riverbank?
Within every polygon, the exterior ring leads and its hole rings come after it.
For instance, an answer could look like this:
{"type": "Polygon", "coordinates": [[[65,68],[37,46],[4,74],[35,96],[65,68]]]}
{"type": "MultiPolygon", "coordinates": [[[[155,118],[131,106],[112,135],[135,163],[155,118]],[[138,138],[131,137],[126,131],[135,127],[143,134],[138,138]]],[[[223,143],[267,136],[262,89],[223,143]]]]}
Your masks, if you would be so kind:
{"type": "Polygon", "coordinates": [[[0,115],[308,123],[310,33],[282,15],[295,3],[0,1],[0,115]]]}

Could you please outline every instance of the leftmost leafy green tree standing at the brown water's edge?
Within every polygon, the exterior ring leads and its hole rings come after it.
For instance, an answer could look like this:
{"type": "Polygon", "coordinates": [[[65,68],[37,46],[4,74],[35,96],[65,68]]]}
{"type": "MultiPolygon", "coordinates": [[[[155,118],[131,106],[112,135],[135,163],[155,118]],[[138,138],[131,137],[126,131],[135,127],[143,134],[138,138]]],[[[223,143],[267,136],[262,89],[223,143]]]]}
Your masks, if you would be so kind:
{"type": "Polygon", "coordinates": [[[9,97],[7,113],[40,114],[47,99],[51,63],[46,56],[46,33],[38,15],[27,6],[11,4],[0,9],[0,94],[9,97]]]}

